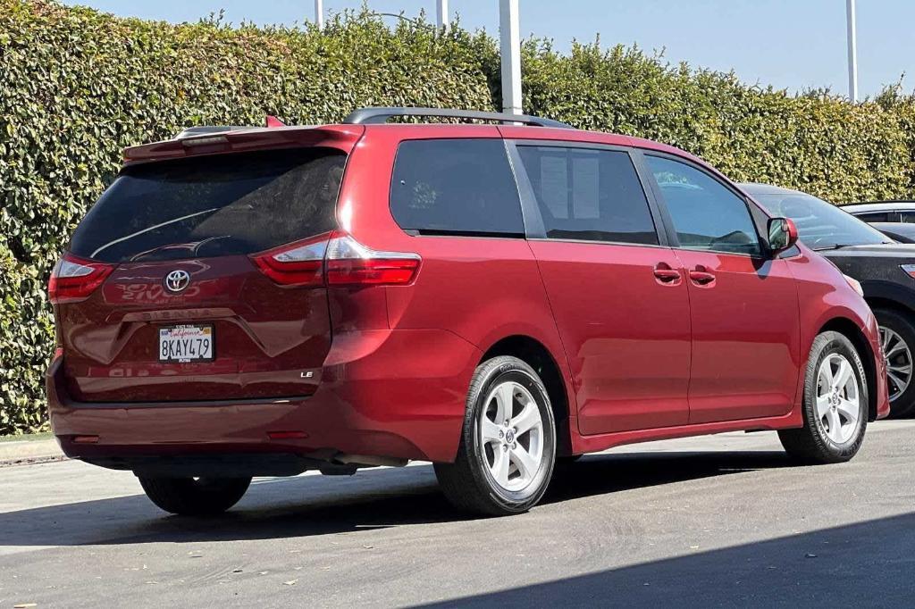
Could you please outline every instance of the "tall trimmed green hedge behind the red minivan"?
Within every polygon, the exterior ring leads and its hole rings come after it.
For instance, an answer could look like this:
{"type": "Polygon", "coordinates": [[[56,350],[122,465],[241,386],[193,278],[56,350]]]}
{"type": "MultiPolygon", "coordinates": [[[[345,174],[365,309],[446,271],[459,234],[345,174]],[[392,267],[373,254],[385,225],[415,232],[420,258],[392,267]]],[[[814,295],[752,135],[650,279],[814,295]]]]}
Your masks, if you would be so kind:
{"type": "MultiPolygon", "coordinates": [[[[852,105],[670,67],[638,49],[529,40],[525,110],[658,139],[735,179],[833,200],[904,196],[915,181],[907,98],[852,105]]],[[[0,0],[0,433],[44,422],[53,349],[44,295],[70,231],[115,175],[124,146],[202,123],[339,121],[366,105],[493,109],[498,45],[368,13],[323,32],[121,19],[49,0],[0,0]]]]}

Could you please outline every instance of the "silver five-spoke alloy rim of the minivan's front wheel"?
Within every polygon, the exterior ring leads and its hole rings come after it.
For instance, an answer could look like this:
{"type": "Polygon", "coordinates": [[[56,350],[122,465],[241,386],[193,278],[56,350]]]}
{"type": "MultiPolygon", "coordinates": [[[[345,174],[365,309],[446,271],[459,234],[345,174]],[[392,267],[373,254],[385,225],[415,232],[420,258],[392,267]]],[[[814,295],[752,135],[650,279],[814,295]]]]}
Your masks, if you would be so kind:
{"type": "Polygon", "coordinates": [[[861,391],[852,366],[844,355],[832,353],[817,371],[817,420],[837,444],[848,442],[861,424],[861,391]]]}

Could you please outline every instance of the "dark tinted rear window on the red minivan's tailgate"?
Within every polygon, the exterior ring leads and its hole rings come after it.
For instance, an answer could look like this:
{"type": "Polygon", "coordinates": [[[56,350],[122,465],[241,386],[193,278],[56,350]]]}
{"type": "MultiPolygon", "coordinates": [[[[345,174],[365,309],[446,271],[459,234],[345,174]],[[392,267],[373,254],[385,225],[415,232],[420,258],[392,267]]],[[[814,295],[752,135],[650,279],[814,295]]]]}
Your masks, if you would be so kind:
{"type": "Polygon", "coordinates": [[[249,254],[335,227],[346,155],[329,148],[125,167],[73,233],[102,262],[249,254]]]}

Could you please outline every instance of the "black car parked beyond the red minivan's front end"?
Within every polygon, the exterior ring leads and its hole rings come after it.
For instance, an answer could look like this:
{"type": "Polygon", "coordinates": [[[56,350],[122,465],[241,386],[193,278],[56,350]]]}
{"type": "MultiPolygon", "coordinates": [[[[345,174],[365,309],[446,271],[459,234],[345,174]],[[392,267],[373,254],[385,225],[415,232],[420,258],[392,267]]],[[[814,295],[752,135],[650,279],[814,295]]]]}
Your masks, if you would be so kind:
{"type": "Polygon", "coordinates": [[[861,283],[880,326],[892,414],[915,413],[915,244],[892,240],[831,203],[798,190],[740,186],[772,214],[794,220],[808,247],[861,283]]]}

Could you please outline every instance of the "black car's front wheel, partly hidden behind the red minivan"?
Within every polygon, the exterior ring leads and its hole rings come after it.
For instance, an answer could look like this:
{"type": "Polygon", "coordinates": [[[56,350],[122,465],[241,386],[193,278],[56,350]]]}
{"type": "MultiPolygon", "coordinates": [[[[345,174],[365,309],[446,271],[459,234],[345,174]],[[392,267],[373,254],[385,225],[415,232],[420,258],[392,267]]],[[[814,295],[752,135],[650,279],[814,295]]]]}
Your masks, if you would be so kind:
{"type": "Polygon", "coordinates": [[[912,382],[912,349],[915,348],[915,326],[909,315],[892,309],[874,309],[880,326],[880,346],[889,351],[889,415],[908,417],[915,413],[915,382],[912,382]],[[908,366],[908,374],[905,367],[908,366]],[[902,385],[900,388],[899,385],[902,385]],[[900,390],[901,389],[901,390],[900,390]]]}

